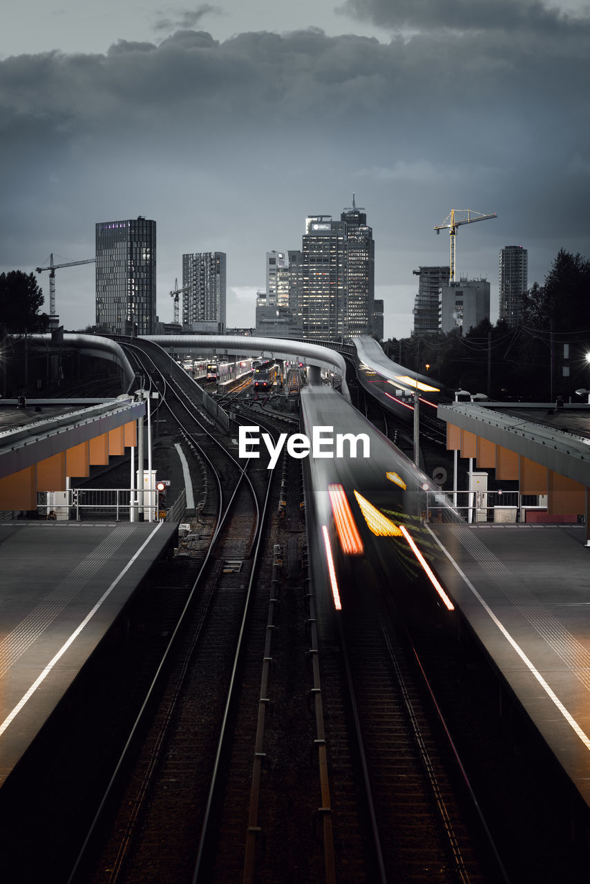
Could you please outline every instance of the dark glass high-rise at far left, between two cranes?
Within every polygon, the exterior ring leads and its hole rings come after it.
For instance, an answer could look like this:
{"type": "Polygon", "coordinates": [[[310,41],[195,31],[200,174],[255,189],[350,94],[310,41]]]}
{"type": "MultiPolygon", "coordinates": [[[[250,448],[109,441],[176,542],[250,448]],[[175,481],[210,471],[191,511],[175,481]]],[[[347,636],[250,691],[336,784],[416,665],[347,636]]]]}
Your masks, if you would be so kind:
{"type": "Polygon", "coordinates": [[[153,334],[156,321],[156,222],[97,224],[96,330],[153,334]]]}

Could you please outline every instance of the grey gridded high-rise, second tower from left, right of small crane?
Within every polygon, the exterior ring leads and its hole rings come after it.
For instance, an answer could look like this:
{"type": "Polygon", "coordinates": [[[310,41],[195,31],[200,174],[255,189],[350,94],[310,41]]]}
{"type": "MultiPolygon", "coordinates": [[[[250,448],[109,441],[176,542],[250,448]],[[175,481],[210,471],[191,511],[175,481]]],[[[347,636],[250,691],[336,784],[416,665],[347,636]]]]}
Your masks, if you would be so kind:
{"type": "Polygon", "coordinates": [[[226,253],[195,252],[182,255],[182,326],[199,331],[203,323],[226,330],[226,253]]]}

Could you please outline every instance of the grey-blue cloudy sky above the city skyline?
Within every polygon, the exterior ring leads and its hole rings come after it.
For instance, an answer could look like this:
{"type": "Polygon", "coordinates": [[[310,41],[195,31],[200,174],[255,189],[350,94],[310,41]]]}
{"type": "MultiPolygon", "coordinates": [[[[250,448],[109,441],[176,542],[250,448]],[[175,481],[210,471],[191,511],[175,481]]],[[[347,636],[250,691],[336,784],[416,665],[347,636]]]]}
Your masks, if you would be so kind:
{"type": "MultiPolygon", "coordinates": [[[[157,311],[184,252],[227,255],[230,325],[254,324],[266,251],[305,217],[363,206],[386,336],[421,264],[502,246],[529,284],[590,258],[590,7],[561,0],[19,0],[0,32],[0,271],[91,258],[97,221],[157,221],[157,311]]],[[[49,279],[42,274],[49,310],[49,279]]],[[[94,322],[94,268],[56,274],[66,329],[94,322]]]]}

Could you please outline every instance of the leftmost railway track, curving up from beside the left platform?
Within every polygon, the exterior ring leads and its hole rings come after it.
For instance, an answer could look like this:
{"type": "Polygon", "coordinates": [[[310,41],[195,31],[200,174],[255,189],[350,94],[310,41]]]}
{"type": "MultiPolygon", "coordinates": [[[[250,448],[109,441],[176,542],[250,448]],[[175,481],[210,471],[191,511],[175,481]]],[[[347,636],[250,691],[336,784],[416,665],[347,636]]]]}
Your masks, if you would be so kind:
{"type": "MultiPolygon", "coordinates": [[[[150,374],[153,377],[153,370],[150,370],[150,374]]],[[[165,400],[170,399],[171,381],[172,378],[164,375],[160,379],[165,400]]],[[[226,695],[230,692],[234,675],[232,660],[240,635],[245,597],[256,568],[252,552],[264,521],[259,500],[260,486],[266,486],[272,474],[264,470],[264,481],[259,478],[256,489],[232,455],[226,454],[225,462],[221,463],[219,469],[224,445],[220,445],[215,434],[211,433],[209,427],[212,422],[207,415],[204,420],[196,420],[195,403],[187,400],[182,386],[181,383],[173,385],[172,413],[178,414],[180,409],[186,412],[182,431],[191,440],[199,460],[204,459],[206,469],[215,476],[215,482],[208,485],[218,508],[216,525],[209,552],[188,592],[186,606],[158,667],[159,677],[150,686],[142,706],[144,715],[152,713],[152,706],[156,704],[156,698],[159,699],[152,724],[147,729],[142,716],[134,725],[134,736],[142,734],[143,749],[124,801],[126,821],[119,820],[117,826],[124,836],[116,850],[112,845],[107,848],[106,857],[99,861],[100,871],[96,880],[104,880],[105,870],[108,870],[106,880],[121,880],[123,873],[133,875],[134,872],[130,870],[134,869],[134,857],[140,857],[138,880],[145,880],[143,864],[146,857],[153,858],[155,841],[160,844],[158,852],[161,864],[149,865],[159,868],[160,872],[164,869],[175,870],[172,878],[165,879],[160,875],[155,880],[180,880],[177,876],[177,873],[180,874],[179,864],[186,877],[187,864],[190,866],[194,863],[195,832],[203,823],[208,783],[216,763],[219,735],[223,734],[225,726],[226,705],[229,702],[226,695]],[[198,440],[195,438],[195,421],[200,431],[198,440]],[[218,462],[214,462],[211,451],[205,450],[203,433],[206,434],[206,446],[217,447],[218,462]],[[193,750],[188,751],[187,743],[191,741],[193,750]],[[209,751],[205,747],[209,747],[209,751]],[[176,760],[171,762],[171,757],[176,760]],[[183,759],[183,772],[172,776],[168,765],[172,764],[172,771],[176,769],[178,772],[179,758],[183,759]],[[195,772],[198,772],[196,779],[195,772]],[[153,833],[161,828],[161,822],[157,822],[161,816],[158,802],[166,793],[170,796],[171,790],[154,784],[165,784],[171,778],[178,780],[178,785],[172,790],[172,804],[167,806],[164,814],[169,821],[170,836],[163,840],[160,834],[153,833]],[[199,785],[200,792],[197,789],[199,785]],[[154,796],[157,796],[157,800],[154,796]],[[187,812],[188,807],[192,809],[191,814],[187,812]],[[151,826],[150,819],[156,820],[151,826]],[[185,825],[192,828],[191,838],[187,837],[186,828],[180,826],[180,820],[186,820],[185,825]],[[140,832],[141,838],[138,838],[140,832]],[[175,835],[173,839],[172,834],[175,835]]],[[[134,739],[130,736],[128,745],[133,743],[134,739]]],[[[130,753],[119,759],[118,775],[122,769],[127,771],[129,759],[130,753]]],[[[113,782],[111,780],[111,784],[113,782]]],[[[88,846],[94,837],[98,818],[111,801],[114,791],[111,784],[96,814],[92,832],[88,835],[88,846]]],[[[72,880],[88,880],[87,873],[80,871],[86,862],[87,852],[82,851],[83,856],[79,857],[72,880]]]]}

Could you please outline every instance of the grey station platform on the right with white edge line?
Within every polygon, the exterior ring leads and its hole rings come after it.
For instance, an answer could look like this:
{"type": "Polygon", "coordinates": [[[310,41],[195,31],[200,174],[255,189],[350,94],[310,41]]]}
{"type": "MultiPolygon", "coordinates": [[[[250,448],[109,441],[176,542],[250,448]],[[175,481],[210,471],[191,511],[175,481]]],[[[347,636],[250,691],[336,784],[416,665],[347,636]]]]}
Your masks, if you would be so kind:
{"type": "Polygon", "coordinates": [[[540,735],[590,805],[586,526],[433,524],[435,567],[540,735]]]}

